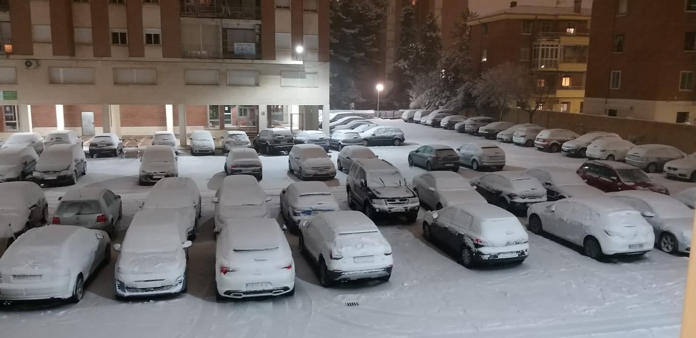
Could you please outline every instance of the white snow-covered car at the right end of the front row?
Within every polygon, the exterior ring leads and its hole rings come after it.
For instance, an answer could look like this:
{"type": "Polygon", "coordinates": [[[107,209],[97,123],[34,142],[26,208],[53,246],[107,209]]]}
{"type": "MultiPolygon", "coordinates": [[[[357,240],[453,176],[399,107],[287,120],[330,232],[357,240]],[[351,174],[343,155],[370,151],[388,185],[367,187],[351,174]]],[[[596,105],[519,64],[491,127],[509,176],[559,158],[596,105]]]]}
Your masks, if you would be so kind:
{"type": "Polygon", "coordinates": [[[531,232],[582,246],[592,259],[644,255],[655,245],[653,228],[640,212],[606,196],[538,203],[527,214],[531,232]]]}

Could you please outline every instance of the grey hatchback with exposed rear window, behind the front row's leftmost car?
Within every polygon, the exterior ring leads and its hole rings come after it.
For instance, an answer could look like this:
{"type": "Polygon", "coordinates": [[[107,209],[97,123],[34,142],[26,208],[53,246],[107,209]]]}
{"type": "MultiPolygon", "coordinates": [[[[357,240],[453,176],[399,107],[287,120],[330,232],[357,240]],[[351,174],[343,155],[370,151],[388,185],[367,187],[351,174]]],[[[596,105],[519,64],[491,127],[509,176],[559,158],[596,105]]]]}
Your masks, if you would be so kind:
{"type": "Polygon", "coordinates": [[[58,200],[52,224],[77,225],[113,236],[123,216],[121,197],[107,188],[72,189],[58,200]]]}

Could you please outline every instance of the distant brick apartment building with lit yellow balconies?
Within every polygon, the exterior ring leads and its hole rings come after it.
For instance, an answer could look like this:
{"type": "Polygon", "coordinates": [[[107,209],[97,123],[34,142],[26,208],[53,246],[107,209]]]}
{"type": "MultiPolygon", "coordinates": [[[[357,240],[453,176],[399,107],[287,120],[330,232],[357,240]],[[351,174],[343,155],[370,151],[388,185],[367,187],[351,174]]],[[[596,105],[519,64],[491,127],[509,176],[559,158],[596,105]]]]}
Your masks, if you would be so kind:
{"type": "Polygon", "coordinates": [[[471,49],[478,72],[503,63],[528,67],[548,92],[541,109],[583,112],[590,49],[590,9],[518,6],[471,19],[471,49]]]}

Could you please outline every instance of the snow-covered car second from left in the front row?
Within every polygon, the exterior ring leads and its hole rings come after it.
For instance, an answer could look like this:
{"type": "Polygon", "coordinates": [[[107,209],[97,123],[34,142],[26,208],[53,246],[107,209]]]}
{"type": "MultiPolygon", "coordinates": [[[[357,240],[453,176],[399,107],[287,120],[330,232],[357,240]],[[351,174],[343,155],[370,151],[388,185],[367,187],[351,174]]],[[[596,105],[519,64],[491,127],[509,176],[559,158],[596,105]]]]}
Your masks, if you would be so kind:
{"type": "Polygon", "coordinates": [[[114,268],[116,298],[186,292],[187,249],[191,241],[177,227],[178,213],[143,210],[135,214],[120,244],[114,268]]]}

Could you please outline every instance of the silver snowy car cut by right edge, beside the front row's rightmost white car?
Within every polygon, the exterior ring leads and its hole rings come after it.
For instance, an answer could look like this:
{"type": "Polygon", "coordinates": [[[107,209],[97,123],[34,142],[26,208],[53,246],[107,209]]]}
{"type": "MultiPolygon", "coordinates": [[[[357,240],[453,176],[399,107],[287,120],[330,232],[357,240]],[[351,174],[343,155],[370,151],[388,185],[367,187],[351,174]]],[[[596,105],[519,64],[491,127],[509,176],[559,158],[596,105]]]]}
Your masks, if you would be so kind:
{"type": "Polygon", "coordinates": [[[618,191],[607,193],[613,200],[635,210],[655,230],[657,248],[675,254],[691,251],[694,211],[679,200],[652,191],[618,191]]]}

